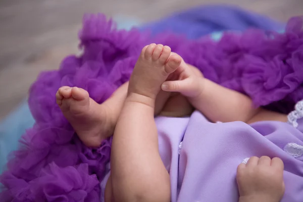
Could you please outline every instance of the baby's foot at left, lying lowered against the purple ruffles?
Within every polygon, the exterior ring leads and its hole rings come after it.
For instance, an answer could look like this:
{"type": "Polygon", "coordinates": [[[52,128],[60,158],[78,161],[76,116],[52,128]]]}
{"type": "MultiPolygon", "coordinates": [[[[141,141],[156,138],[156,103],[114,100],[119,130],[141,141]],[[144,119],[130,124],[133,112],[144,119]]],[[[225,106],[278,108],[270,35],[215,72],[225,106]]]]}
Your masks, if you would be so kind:
{"type": "Polygon", "coordinates": [[[106,105],[99,105],[86,90],[63,86],[56,93],[56,101],[65,118],[70,122],[81,141],[97,147],[114,132],[106,105]]]}

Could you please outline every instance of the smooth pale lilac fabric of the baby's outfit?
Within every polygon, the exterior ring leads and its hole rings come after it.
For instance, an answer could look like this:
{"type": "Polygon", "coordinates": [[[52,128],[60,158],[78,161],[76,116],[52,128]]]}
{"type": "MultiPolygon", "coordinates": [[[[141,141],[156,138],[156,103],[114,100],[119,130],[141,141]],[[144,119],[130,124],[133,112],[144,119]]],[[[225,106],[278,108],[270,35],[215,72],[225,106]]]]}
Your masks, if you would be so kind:
{"type": "MultiPolygon", "coordinates": [[[[285,164],[281,201],[302,201],[303,156],[294,158],[284,147],[295,143],[303,151],[303,119],[295,129],[275,121],[210,123],[194,112],[190,118],[158,117],[156,124],[160,155],[170,174],[171,201],[238,201],[237,166],[252,156],[281,158],[285,164]]],[[[102,201],[109,174],[108,170],[101,183],[102,201]]]]}

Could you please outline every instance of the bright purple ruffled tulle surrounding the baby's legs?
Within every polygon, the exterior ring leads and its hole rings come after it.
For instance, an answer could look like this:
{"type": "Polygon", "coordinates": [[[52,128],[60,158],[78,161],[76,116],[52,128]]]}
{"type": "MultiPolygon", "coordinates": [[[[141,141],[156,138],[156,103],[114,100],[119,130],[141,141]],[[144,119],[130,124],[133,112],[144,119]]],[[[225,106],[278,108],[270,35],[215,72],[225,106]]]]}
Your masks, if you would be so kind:
{"type": "Polygon", "coordinates": [[[81,57],[69,56],[59,70],[43,72],[32,85],[29,107],[35,126],[20,140],[0,178],[2,201],[99,201],[99,181],[110,159],[111,139],[85,147],[56,105],[64,85],[86,89],[97,103],[126,82],[141,48],[171,46],[205,77],[249,95],[256,106],[289,112],[303,98],[302,18],[289,20],[283,34],[247,30],[189,40],[173,33],[117,30],[104,15],[86,15],[79,33],[81,57]]]}

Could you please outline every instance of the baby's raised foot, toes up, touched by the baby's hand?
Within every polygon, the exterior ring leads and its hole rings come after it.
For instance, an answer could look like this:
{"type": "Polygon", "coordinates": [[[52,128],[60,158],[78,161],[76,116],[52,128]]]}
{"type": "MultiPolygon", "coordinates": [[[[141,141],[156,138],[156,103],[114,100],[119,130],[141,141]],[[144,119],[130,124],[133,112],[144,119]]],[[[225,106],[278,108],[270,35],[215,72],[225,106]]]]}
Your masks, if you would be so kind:
{"type": "Polygon", "coordinates": [[[129,81],[128,93],[155,99],[161,84],[181,64],[182,58],[171,54],[169,46],[152,43],[143,47],[129,81]]]}

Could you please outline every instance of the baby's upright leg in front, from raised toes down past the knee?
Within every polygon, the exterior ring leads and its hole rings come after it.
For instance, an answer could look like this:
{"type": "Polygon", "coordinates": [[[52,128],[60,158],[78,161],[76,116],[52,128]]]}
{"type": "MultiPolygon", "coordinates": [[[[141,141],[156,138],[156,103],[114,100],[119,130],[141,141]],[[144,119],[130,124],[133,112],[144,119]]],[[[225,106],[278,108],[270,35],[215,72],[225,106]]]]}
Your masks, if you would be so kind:
{"type": "Polygon", "coordinates": [[[159,154],[154,111],[161,84],[180,63],[180,56],[170,56],[168,46],[150,44],[135,65],[112,144],[108,182],[112,193],[106,190],[106,195],[117,201],[170,201],[170,179],[159,154]]]}

